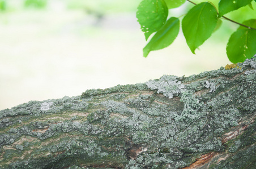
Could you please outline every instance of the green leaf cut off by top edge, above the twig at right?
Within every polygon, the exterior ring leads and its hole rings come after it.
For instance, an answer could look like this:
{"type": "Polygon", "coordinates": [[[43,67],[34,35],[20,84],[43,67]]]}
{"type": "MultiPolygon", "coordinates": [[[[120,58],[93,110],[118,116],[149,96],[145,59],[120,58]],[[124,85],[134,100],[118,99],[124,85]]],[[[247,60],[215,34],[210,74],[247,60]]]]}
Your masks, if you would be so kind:
{"type": "Polygon", "coordinates": [[[219,17],[251,3],[253,0],[220,0],[219,17]]]}

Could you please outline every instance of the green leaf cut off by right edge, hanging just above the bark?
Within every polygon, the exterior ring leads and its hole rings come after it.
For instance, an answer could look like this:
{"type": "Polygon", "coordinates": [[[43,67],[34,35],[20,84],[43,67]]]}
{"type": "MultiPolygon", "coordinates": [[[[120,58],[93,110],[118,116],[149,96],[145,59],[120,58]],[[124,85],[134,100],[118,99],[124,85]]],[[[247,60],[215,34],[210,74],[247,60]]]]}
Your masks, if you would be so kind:
{"type": "MultiPolygon", "coordinates": [[[[243,24],[256,28],[256,19],[244,21],[243,24]]],[[[232,63],[250,59],[256,54],[256,30],[240,26],[229,38],[226,50],[232,63]]]]}

